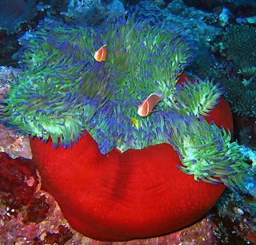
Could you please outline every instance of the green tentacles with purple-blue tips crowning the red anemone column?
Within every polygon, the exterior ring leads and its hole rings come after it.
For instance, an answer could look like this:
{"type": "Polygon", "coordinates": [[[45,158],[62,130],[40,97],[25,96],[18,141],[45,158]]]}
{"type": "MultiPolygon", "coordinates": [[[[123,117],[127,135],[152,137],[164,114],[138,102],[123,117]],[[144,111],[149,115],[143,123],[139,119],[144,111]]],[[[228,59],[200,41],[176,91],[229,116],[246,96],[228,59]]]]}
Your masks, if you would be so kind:
{"type": "Polygon", "coordinates": [[[88,131],[104,154],[166,142],[195,180],[218,177],[242,188],[249,167],[238,146],[229,143],[230,133],[200,117],[218,105],[222,89],[199,79],[176,87],[191,58],[181,34],[133,18],[101,32],[48,23],[22,44],[23,73],[4,101],[6,124],[45,141],[50,136],[54,147],[70,147],[88,131]],[[102,45],[107,57],[98,62],[94,51],[102,45]],[[162,101],[149,117],[139,117],[138,105],[155,92],[162,101]]]}

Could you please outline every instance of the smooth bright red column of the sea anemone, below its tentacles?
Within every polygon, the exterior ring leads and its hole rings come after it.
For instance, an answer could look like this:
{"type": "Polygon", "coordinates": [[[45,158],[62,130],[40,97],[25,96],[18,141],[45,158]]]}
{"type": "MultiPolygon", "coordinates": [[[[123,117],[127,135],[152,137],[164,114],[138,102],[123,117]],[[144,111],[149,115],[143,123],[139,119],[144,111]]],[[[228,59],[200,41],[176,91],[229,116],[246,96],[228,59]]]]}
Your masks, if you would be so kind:
{"type": "MultiPolygon", "coordinates": [[[[223,99],[206,120],[233,130],[223,99]]],[[[93,239],[123,241],[186,227],[206,215],[225,189],[181,172],[170,144],[114,149],[103,156],[86,134],[71,149],[54,149],[37,138],[30,145],[42,188],[58,201],[70,225],[93,239]]]]}

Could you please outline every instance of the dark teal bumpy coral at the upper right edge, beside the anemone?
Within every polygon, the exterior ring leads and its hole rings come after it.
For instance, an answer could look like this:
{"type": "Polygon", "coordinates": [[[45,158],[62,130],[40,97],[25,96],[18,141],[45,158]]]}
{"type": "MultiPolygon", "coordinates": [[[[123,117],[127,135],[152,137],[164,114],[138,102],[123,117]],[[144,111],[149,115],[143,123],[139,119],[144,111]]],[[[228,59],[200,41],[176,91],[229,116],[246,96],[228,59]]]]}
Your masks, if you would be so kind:
{"type": "Polygon", "coordinates": [[[255,117],[256,28],[229,26],[215,38],[215,54],[224,67],[218,81],[226,87],[225,97],[238,116],[255,117]]]}

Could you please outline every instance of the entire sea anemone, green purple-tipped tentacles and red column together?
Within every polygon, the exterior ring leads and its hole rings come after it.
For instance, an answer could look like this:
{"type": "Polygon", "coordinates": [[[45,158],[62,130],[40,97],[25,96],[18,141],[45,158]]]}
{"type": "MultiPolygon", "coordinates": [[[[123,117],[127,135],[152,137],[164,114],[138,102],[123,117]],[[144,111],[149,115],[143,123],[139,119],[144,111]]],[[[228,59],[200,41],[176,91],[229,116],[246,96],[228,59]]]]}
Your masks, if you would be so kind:
{"type": "Polygon", "coordinates": [[[165,234],[206,214],[222,184],[244,189],[251,169],[230,143],[223,89],[184,82],[191,55],[180,32],[134,18],[103,30],[47,22],[21,43],[22,73],[1,121],[42,138],[30,142],[43,186],[78,231],[106,240],[165,234]],[[162,101],[139,117],[150,93],[162,101]]]}

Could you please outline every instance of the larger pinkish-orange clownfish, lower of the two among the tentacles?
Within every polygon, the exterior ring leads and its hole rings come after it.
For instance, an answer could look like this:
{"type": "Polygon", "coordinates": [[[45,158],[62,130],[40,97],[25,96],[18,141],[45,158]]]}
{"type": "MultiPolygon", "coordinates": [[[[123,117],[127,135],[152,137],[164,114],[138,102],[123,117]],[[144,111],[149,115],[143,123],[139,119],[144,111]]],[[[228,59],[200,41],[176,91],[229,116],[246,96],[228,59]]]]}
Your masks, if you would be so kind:
{"type": "Polygon", "coordinates": [[[162,95],[159,93],[151,93],[141,105],[138,105],[138,115],[146,117],[152,113],[152,109],[162,100],[162,95]]]}

